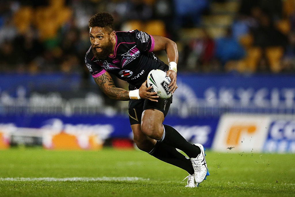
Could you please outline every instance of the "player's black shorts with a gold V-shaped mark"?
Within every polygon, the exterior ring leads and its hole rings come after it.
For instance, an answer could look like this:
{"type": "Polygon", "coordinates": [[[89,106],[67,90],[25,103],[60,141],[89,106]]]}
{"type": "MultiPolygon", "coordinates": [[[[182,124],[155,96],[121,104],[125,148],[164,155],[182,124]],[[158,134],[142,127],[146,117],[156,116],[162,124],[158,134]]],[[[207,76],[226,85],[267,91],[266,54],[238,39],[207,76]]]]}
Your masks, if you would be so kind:
{"type": "MultiPolygon", "coordinates": [[[[130,86],[129,86],[129,89],[130,89],[130,86]]],[[[165,100],[158,99],[158,102],[150,101],[148,99],[130,100],[128,105],[130,125],[140,124],[142,112],[147,109],[159,110],[163,112],[165,117],[172,103],[172,99],[173,99],[173,96],[165,100]]]]}

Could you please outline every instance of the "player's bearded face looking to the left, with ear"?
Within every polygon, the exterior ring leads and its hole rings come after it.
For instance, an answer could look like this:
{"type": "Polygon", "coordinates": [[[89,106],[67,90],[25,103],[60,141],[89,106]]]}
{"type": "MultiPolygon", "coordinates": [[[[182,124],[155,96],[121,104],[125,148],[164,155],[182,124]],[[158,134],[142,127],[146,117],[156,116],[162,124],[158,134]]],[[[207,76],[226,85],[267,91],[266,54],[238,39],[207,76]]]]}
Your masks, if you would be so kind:
{"type": "Polygon", "coordinates": [[[91,27],[89,32],[90,42],[94,56],[99,60],[105,60],[108,55],[114,52],[112,39],[113,32],[109,34],[102,27],[91,27]]]}

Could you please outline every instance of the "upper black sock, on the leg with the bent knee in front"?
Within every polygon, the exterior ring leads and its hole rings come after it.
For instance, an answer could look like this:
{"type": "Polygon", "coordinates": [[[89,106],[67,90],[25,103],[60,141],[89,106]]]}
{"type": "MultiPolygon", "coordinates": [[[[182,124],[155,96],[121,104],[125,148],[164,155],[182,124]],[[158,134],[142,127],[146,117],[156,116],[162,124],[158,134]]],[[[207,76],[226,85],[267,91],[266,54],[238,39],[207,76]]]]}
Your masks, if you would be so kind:
{"type": "Polygon", "coordinates": [[[168,125],[163,126],[164,133],[162,139],[160,140],[161,142],[182,150],[189,158],[196,158],[201,153],[201,149],[198,146],[189,143],[173,127],[168,125]]]}

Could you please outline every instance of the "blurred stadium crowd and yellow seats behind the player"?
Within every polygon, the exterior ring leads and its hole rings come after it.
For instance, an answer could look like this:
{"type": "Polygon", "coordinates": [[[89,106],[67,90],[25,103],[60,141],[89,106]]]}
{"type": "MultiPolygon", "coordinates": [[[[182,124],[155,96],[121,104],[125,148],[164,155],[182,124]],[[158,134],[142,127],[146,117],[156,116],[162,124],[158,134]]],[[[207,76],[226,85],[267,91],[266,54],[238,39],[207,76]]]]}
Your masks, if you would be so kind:
{"type": "Polygon", "coordinates": [[[0,72],[89,77],[87,24],[99,11],[117,31],[175,40],[180,71],[295,71],[294,0],[1,0],[0,72]]]}

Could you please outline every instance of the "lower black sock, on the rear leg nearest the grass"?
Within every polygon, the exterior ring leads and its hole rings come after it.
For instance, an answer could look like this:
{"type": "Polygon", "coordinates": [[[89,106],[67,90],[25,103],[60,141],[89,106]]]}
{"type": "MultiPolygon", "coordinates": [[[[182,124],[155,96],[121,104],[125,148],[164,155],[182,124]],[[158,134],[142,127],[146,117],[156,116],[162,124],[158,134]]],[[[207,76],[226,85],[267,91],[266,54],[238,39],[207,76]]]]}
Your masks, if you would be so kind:
{"type": "Polygon", "coordinates": [[[163,162],[186,170],[190,175],[194,174],[194,168],[191,165],[191,160],[178,152],[176,148],[173,148],[172,146],[157,141],[154,149],[149,154],[163,162]]]}

